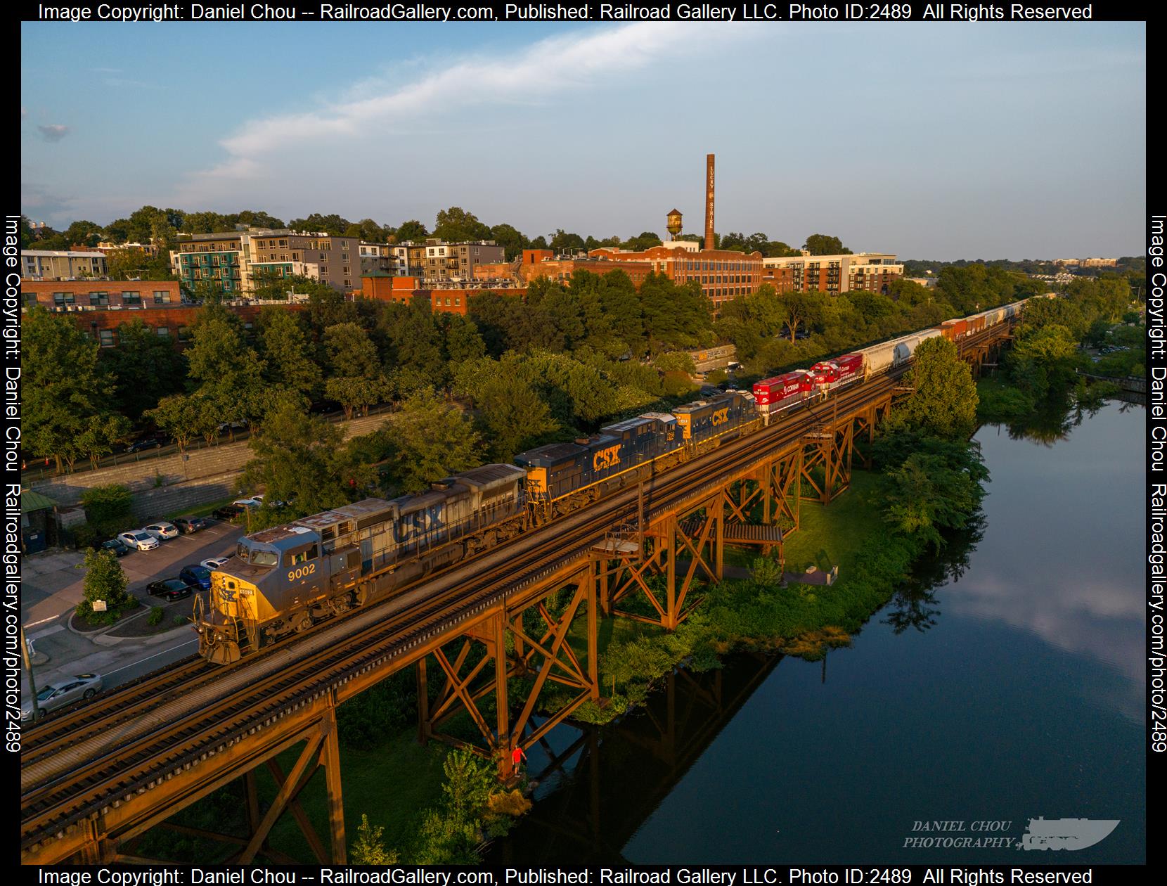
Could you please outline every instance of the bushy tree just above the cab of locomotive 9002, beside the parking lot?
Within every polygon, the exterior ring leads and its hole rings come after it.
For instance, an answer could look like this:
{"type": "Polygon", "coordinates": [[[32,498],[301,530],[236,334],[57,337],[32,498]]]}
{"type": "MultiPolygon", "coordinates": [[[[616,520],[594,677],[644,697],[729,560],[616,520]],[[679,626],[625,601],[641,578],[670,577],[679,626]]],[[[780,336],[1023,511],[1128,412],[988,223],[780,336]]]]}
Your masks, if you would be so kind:
{"type": "Polygon", "coordinates": [[[298,514],[316,514],[351,497],[364,497],[372,469],[343,446],[343,430],[307,414],[294,397],[282,397],[249,440],[254,458],[243,469],[243,486],[264,487],[271,500],[292,502],[298,514]]]}

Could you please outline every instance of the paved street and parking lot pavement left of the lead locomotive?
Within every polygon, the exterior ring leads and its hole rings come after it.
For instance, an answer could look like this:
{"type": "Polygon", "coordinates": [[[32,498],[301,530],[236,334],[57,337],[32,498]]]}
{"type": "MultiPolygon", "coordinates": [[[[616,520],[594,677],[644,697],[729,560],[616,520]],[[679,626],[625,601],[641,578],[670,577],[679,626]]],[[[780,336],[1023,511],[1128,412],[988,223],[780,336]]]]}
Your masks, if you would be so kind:
{"type": "MultiPolygon", "coordinates": [[[[190,599],[163,602],[146,595],[146,585],[179,574],[189,564],[222,557],[235,550],[243,536],[240,526],[215,523],[193,536],[179,536],[153,551],[134,551],[120,559],[130,579],[130,592],[151,606],[161,606],[163,620],[188,615],[190,599]]],[[[191,655],[197,648],[189,625],[153,637],[114,639],[104,634],[81,635],[69,629],[69,616],[83,599],[83,556],[76,551],[54,552],[26,560],[21,615],[26,636],[36,658],[48,661],[34,668],[39,688],[72,674],[96,672],[106,686],[126,683],[152,670],[191,655]]],[[[27,681],[27,677],[26,677],[27,681]]]]}

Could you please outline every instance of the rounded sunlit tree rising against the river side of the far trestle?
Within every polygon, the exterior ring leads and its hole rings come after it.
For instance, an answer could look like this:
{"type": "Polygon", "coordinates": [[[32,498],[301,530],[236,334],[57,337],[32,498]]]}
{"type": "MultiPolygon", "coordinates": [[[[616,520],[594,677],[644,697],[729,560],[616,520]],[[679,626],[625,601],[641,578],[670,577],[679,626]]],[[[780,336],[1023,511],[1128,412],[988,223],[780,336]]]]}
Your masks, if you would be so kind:
{"type": "Polygon", "coordinates": [[[916,346],[906,383],[915,392],[894,421],[950,440],[967,440],[977,430],[977,384],[948,339],[936,336],[916,346]]]}

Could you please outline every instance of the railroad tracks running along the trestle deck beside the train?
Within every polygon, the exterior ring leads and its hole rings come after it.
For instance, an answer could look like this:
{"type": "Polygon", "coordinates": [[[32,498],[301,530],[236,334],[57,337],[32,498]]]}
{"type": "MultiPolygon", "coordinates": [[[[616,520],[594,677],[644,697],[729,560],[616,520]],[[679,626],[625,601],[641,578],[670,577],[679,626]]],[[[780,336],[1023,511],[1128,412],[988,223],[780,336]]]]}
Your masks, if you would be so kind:
{"type": "MultiPolygon", "coordinates": [[[[854,410],[885,397],[894,377],[844,391],[827,404],[854,410]]],[[[816,409],[809,410],[812,414],[816,409]]],[[[731,440],[645,481],[648,515],[699,500],[766,452],[795,442],[806,410],[731,440]],[[795,419],[794,421],[791,419],[795,419]]],[[[270,653],[229,667],[180,664],[154,679],[117,690],[30,734],[21,767],[21,845],[138,793],[230,744],[265,721],[406,654],[412,647],[586,558],[613,523],[633,516],[637,490],[609,495],[553,525],[484,552],[366,611],[330,621],[270,653]]]]}

